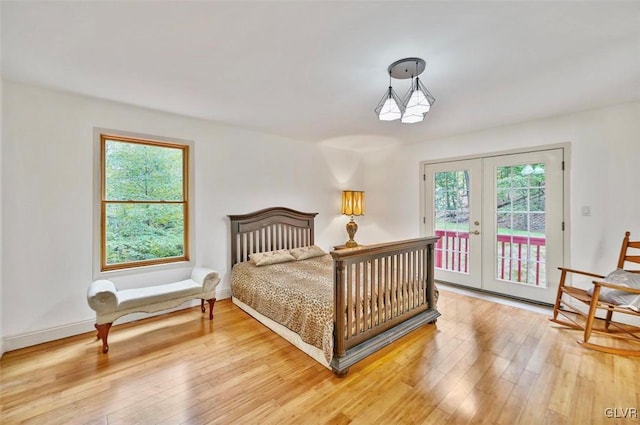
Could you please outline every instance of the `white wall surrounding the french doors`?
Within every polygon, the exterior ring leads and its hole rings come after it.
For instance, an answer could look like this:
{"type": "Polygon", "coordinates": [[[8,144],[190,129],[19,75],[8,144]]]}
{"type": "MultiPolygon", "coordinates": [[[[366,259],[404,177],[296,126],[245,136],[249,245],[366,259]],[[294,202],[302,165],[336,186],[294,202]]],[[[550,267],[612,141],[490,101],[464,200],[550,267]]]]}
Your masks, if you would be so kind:
{"type": "MultiPolygon", "coordinates": [[[[429,118],[416,125],[428,126],[429,118]]],[[[420,161],[570,142],[566,265],[607,273],[615,268],[624,232],[640,239],[639,137],[636,102],[368,153],[363,177],[372,224],[366,238],[419,235],[420,161]],[[591,216],[580,215],[583,205],[591,206],[591,216]]]]}

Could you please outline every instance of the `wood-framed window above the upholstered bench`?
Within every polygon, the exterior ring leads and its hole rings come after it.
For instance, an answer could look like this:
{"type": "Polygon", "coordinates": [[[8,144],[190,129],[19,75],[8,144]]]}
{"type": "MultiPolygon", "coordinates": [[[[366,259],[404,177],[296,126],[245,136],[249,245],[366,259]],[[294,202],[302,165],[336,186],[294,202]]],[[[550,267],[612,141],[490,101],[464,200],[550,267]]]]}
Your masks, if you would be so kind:
{"type": "Polygon", "coordinates": [[[189,260],[189,146],[100,135],[101,271],[189,260]]]}

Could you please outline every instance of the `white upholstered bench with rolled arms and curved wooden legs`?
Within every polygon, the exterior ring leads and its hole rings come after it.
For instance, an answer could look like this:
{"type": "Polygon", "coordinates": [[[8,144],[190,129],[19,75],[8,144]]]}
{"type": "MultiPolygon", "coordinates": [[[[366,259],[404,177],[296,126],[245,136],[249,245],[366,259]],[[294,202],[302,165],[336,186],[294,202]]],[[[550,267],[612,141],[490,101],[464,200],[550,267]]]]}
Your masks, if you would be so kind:
{"type": "Polygon", "coordinates": [[[190,279],[144,288],[118,290],[110,280],[96,280],[87,291],[87,301],[96,312],[95,327],[98,339],[102,340],[102,352],[109,351],[107,338],[111,325],[126,314],[154,313],[200,298],[202,312],[205,312],[206,300],[209,303],[209,320],[213,320],[218,283],[218,272],[203,267],[195,267],[190,279]]]}

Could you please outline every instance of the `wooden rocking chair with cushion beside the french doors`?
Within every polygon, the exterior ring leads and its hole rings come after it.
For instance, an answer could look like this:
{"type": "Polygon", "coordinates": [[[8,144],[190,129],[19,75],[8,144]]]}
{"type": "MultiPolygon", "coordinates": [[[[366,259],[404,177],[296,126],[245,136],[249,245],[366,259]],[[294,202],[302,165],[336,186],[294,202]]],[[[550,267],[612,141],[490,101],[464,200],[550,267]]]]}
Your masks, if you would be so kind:
{"type": "MultiPolygon", "coordinates": [[[[640,255],[629,254],[630,249],[640,249],[640,241],[629,241],[629,236],[630,233],[626,232],[625,237],[622,240],[622,247],[620,248],[620,256],[618,258],[617,264],[618,269],[624,269],[626,263],[640,264],[640,255]]],[[[558,286],[558,294],[553,308],[553,317],[549,320],[554,323],[569,327],[571,329],[584,331],[584,339],[578,340],[578,342],[585,348],[626,356],[640,356],[640,326],[634,326],[631,324],[622,323],[618,320],[613,320],[613,313],[618,313],[618,316],[624,314],[626,316],[640,317],[640,312],[600,299],[602,288],[608,288],[622,291],[628,294],[637,295],[640,295],[640,289],[621,286],[610,282],[604,282],[602,281],[602,279],[604,279],[605,276],[595,273],[573,270],[564,267],[560,267],[559,269],[562,272],[560,275],[560,284],[558,286]],[[568,273],[576,273],[598,279],[593,281],[594,288],[592,294],[590,294],[587,290],[567,285],[566,277],[568,273]],[[576,307],[575,304],[571,304],[569,301],[571,301],[572,299],[578,301],[578,305],[582,304],[583,309],[576,307]],[[585,306],[588,307],[586,313],[584,312],[585,306]],[[598,310],[606,312],[604,318],[604,326],[595,326],[595,323],[598,320],[598,318],[596,318],[596,312],[598,310]],[[607,337],[623,339],[631,342],[632,345],[633,343],[637,343],[638,347],[635,349],[627,349],[619,346],[619,344],[595,344],[589,341],[593,333],[603,334],[607,337]]],[[[640,270],[627,271],[632,273],[640,273],[640,270]]],[[[611,342],[613,342],[613,340],[611,342]]]]}

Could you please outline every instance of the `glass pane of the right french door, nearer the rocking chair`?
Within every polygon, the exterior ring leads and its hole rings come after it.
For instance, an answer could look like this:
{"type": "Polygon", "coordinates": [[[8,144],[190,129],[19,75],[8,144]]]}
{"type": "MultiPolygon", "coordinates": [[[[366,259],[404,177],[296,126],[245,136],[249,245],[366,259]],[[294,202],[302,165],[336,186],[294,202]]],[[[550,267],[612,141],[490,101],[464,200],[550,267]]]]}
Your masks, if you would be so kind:
{"type": "Polygon", "coordinates": [[[496,277],[546,287],[545,164],[496,168],[496,277]]]}

